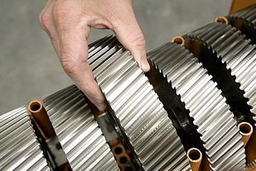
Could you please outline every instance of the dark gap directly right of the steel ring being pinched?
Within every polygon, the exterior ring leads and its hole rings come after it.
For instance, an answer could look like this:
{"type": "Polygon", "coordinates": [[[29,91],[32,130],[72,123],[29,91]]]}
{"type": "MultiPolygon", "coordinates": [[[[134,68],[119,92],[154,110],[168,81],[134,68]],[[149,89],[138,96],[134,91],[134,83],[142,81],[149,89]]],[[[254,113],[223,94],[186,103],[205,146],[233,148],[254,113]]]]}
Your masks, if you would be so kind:
{"type": "Polygon", "coordinates": [[[172,124],[181,139],[181,143],[185,151],[190,148],[198,148],[205,155],[203,142],[200,134],[196,131],[196,125],[189,116],[189,111],[185,109],[185,104],[181,102],[181,97],[176,94],[170,83],[163,75],[154,68],[151,62],[151,69],[145,73],[149,82],[154,87],[154,91],[158,94],[163,107],[167,110],[168,116],[172,120],[172,124]]]}

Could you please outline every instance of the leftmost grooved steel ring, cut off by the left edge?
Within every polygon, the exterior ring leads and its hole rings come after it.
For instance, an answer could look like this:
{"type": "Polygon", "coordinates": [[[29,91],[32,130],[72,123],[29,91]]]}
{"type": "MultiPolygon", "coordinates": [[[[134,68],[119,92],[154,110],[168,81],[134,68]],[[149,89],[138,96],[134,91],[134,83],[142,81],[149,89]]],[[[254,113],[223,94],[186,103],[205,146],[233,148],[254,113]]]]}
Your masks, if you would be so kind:
{"type": "Polygon", "coordinates": [[[26,106],[0,115],[0,170],[50,170],[26,106]]]}

